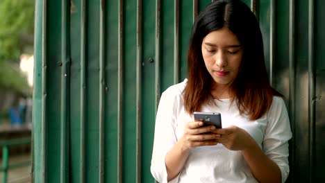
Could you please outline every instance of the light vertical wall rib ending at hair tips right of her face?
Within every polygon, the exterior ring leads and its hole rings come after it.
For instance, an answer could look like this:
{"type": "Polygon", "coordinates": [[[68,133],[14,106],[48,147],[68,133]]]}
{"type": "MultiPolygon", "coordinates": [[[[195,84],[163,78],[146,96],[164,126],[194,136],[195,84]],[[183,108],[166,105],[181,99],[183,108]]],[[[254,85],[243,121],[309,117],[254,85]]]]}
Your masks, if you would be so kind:
{"type": "MultiPolygon", "coordinates": [[[[269,83],[273,86],[274,66],[274,32],[275,32],[275,0],[270,1],[270,25],[269,25],[269,83]]],[[[256,16],[257,17],[257,16],[256,16]]]]}

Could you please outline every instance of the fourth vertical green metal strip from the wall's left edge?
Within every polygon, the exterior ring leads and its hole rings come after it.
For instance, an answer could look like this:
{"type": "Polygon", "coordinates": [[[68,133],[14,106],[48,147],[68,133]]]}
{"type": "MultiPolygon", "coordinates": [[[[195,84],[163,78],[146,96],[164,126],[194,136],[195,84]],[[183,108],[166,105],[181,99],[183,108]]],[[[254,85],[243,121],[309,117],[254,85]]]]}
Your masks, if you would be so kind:
{"type": "Polygon", "coordinates": [[[99,182],[100,1],[85,1],[85,182],[99,182]],[[94,21],[96,20],[96,21],[94,21]]]}

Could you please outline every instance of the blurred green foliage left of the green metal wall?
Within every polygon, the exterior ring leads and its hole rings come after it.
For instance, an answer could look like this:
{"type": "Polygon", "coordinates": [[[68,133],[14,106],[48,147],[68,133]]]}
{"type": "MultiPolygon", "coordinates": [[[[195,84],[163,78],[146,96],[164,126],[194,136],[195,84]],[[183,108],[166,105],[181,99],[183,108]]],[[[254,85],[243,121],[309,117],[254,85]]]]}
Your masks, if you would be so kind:
{"type": "Polygon", "coordinates": [[[35,0],[0,0],[0,87],[30,93],[19,70],[22,53],[33,54],[35,0]]]}

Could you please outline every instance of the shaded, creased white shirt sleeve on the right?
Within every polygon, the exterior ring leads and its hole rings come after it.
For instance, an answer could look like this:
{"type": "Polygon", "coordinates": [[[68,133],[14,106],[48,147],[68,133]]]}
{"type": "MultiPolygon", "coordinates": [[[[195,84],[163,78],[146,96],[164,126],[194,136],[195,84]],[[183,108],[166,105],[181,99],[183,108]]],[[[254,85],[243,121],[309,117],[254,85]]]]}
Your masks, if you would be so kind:
{"type": "Polygon", "coordinates": [[[292,138],[288,111],[283,98],[274,97],[267,112],[267,127],[263,139],[263,151],[280,168],[282,182],[289,175],[288,141],[292,138]]]}

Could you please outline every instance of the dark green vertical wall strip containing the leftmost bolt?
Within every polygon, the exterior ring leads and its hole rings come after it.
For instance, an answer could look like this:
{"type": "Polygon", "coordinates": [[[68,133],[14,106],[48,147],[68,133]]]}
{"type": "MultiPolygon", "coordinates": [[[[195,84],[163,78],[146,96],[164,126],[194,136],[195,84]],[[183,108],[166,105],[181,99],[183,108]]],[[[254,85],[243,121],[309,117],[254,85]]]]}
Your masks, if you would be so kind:
{"type": "MultiPolygon", "coordinates": [[[[48,1],[47,6],[62,7],[62,1],[48,1]]],[[[62,115],[65,115],[62,111],[61,96],[63,94],[63,64],[65,60],[62,60],[62,36],[63,36],[63,24],[62,24],[63,9],[53,10],[47,8],[47,21],[52,22],[47,24],[47,42],[46,45],[46,71],[44,72],[45,82],[51,85],[46,85],[46,104],[44,105],[44,111],[46,116],[44,123],[46,125],[46,181],[47,182],[60,182],[61,177],[61,160],[63,157],[61,137],[61,130],[64,128],[62,121],[62,115]],[[56,20],[56,21],[53,21],[56,20]],[[51,42],[51,44],[48,44],[51,42]],[[49,133],[51,132],[51,133],[49,133]],[[49,145],[51,144],[51,145],[49,145]],[[49,172],[58,171],[58,175],[54,175],[49,172]]]]}

